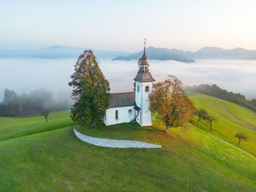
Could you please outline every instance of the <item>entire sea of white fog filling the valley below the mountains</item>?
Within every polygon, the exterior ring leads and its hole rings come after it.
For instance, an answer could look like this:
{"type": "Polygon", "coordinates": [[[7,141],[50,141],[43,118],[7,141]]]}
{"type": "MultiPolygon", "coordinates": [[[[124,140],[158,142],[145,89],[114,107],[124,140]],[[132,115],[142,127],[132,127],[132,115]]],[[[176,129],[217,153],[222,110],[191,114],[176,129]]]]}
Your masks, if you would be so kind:
{"type": "MultiPolygon", "coordinates": [[[[29,93],[43,88],[56,97],[69,97],[67,85],[74,72],[76,59],[0,58],[0,101],[4,89],[29,93]]],[[[193,64],[177,61],[148,61],[154,79],[162,81],[168,75],[182,80],[184,85],[217,84],[228,91],[256,98],[256,61],[197,60],[193,64]]],[[[133,91],[133,79],[138,63],[132,61],[99,60],[103,74],[110,82],[111,93],[133,91]]]]}

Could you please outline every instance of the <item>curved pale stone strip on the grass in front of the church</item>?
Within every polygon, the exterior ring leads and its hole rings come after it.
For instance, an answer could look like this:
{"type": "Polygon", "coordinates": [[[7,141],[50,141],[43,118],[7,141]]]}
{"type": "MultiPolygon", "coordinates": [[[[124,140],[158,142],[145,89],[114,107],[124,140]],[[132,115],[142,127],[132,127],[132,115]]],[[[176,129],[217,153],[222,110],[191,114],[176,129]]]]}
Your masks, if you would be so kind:
{"type": "Polygon", "coordinates": [[[161,145],[154,145],[147,142],[137,142],[130,140],[116,140],[116,139],[102,139],[97,137],[90,137],[81,134],[74,128],[75,135],[83,142],[100,147],[113,147],[113,148],[161,148],[161,145]]]}

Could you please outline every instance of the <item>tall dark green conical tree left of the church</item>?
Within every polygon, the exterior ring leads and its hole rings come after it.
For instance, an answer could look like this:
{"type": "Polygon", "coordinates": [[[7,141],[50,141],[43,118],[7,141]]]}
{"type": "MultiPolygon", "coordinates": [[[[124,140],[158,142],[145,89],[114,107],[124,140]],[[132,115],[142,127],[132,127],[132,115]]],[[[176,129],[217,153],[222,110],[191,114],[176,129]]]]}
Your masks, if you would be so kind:
{"type": "Polygon", "coordinates": [[[69,86],[73,88],[72,99],[75,101],[70,115],[72,120],[94,126],[102,123],[109,106],[110,85],[91,50],[85,50],[80,55],[71,78],[69,86]]]}

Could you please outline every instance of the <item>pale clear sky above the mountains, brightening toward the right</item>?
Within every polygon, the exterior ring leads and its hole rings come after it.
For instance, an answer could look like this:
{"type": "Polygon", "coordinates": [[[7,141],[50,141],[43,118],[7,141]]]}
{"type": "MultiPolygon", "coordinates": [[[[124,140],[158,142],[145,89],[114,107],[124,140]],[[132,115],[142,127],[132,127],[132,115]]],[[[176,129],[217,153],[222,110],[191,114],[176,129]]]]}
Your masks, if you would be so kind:
{"type": "Polygon", "coordinates": [[[256,50],[256,1],[0,0],[0,48],[256,50]]]}

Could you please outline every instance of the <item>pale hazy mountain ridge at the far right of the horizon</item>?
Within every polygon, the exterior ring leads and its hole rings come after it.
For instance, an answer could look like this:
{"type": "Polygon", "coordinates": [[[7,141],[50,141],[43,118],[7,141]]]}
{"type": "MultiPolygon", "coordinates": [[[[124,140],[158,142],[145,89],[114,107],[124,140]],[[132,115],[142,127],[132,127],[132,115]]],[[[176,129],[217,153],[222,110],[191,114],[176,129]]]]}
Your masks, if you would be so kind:
{"type": "Polygon", "coordinates": [[[192,58],[222,58],[222,59],[246,59],[255,60],[256,50],[235,48],[225,50],[220,47],[203,47],[194,53],[192,58]]]}

